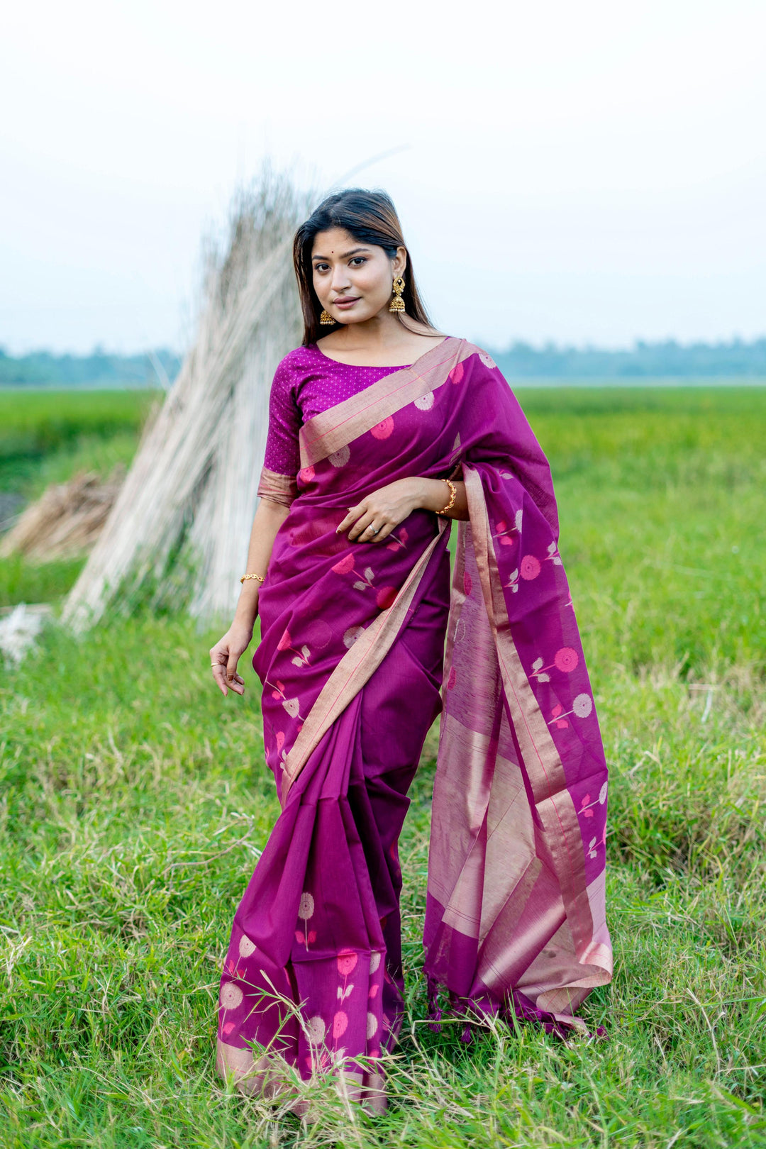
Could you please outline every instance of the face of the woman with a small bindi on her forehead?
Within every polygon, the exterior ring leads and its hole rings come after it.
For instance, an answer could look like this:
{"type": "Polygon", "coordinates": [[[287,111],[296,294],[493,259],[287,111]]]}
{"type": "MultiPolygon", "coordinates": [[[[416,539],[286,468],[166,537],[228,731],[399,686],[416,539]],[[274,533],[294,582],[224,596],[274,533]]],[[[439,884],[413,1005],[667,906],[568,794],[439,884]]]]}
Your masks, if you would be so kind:
{"type": "Polygon", "coordinates": [[[407,252],[392,260],[382,247],[363,244],[342,228],[320,231],[311,249],[314,290],[338,323],[363,323],[387,308],[393,282],[407,265],[407,252]]]}

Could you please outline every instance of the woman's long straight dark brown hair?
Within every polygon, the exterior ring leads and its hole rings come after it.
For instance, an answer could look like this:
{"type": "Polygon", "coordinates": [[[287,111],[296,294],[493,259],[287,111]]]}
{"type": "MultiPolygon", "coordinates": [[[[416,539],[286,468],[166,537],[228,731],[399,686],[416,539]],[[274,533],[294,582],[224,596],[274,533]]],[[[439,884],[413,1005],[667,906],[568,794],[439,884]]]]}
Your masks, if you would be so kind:
{"type": "MultiPolygon", "coordinates": [[[[396,255],[397,247],[407,247],[396,208],[386,192],[369,192],[363,187],[349,187],[323,200],[305,223],[302,223],[297,229],[293,240],[295,278],[297,279],[303,311],[304,347],[315,344],[317,339],[328,333],[327,327],[319,324],[322,303],[314,290],[311,249],[319,232],[328,231],[331,228],[342,228],[361,244],[373,244],[376,247],[382,247],[392,260],[396,255]]],[[[407,253],[402,299],[405,309],[402,322],[407,324],[409,317],[424,324],[431,331],[435,331],[418,293],[409,252],[407,253]]],[[[402,313],[399,315],[401,316],[402,313]]],[[[336,326],[342,326],[342,324],[336,324],[336,326]]]]}

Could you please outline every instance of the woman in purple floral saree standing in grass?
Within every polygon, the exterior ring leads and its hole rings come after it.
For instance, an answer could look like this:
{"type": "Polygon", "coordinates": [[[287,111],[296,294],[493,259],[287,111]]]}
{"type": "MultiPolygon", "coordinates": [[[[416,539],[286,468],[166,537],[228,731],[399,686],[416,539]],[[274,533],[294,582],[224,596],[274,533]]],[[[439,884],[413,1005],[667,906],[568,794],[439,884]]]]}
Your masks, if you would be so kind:
{"type": "Polygon", "coordinates": [[[210,651],[241,694],[260,615],[283,807],[234,917],[218,1069],[266,1094],[328,1069],[374,1108],[402,1023],[397,841],[435,716],[436,1017],[443,987],[585,1027],[611,977],[606,766],[550,471],[508,384],[431,326],[384,193],[330,196],[294,260],[303,346],[274,377],[242,593],[210,651]]]}

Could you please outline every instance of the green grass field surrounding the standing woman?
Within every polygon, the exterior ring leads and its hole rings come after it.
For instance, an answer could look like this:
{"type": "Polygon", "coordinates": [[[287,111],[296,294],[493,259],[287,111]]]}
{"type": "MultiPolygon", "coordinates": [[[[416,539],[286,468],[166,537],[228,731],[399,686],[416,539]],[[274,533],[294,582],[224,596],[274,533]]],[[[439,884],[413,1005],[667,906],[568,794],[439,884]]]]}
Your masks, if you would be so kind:
{"type": "MultiPolygon", "coordinates": [[[[554,468],[612,771],[616,976],[583,1007],[609,1039],[498,1027],[466,1047],[421,1024],[430,737],[402,845],[410,1024],[388,1115],[317,1085],[323,1120],[303,1127],[226,1093],[219,965],[277,812],[255,676],[223,700],[218,635],[183,617],[82,641],[53,627],[2,681],[0,1144],[766,1144],[766,388],[518,393],[554,468]]],[[[115,425],[99,402],[111,430],[83,432],[87,449],[127,435],[129,457],[141,410],[115,425]]],[[[71,462],[68,435],[51,450],[71,462]]],[[[51,465],[36,458],[30,485],[51,465]]],[[[38,586],[53,599],[72,577],[38,586]]]]}

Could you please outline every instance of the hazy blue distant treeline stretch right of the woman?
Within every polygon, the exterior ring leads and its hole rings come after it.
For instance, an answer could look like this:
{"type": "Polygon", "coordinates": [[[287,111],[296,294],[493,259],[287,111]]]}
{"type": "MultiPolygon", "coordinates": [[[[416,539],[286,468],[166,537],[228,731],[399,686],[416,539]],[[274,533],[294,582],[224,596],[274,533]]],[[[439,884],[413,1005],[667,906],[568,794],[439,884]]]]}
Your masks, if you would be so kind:
{"type": "Polygon", "coordinates": [[[766,339],[730,344],[661,344],[639,340],[629,350],[598,347],[532,347],[516,342],[493,355],[509,378],[644,378],[650,376],[766,377],[766,339]]]}

